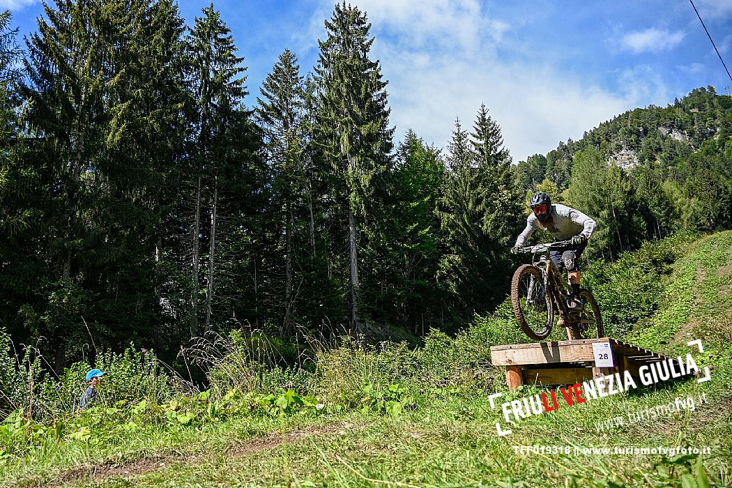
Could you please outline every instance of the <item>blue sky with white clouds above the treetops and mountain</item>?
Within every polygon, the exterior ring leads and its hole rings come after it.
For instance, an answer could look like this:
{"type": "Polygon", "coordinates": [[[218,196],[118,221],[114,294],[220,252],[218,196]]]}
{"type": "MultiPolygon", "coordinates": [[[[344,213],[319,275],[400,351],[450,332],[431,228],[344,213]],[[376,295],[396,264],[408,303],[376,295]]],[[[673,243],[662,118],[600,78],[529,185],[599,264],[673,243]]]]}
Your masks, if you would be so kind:
{"type": "MultiPolygon", "coordinates": [[[[179,0],[193,23],[210,1],[179,0]]],[[[471,127],[481,103],[501,125],[515,162],[579,139],[636,107],[667,105],[698,86],[732,91],[689,0],[354,0],[373,24],[373,58],[389,80],[397,141],[413,129],[446,146],[455,117],[471,127]]],[[[695,0],[732,70],[732,0],[695,0]]],[[[220,0],[214,7],[248,67],[249,105],[289,48],[303,72],[334,2],[220,0]]],[[[38,0],[0,0],[21,34],[38,0]]]]}

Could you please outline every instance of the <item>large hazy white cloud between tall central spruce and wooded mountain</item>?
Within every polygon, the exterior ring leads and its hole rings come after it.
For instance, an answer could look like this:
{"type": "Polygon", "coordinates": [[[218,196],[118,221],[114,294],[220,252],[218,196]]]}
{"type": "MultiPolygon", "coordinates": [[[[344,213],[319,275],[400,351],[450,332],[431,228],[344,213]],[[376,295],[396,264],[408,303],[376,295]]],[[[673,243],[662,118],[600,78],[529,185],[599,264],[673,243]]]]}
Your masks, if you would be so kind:
{"type": "MultiPolygon", "coordinates": [[[[632,84],[622,83],[620,93],[610,93],[580,75],[560,72],[551,61],[501,59],[504,34],[511,31],[512,42],[520,42],[520,26],[491,18],[477,1],[352,1],[373,24],[372,54],[389,80],[397,141],[414,129],[427,143],[447,146],[455,116],[469,130],[485,103],[518,162],[555,149],[561,140],[578,140],[586,130],[663,91],[656,78],[643,79],[633,70],[616,73],[632,84]]],[[[322,17],[319,21],[322,25],[322,17]]]]}

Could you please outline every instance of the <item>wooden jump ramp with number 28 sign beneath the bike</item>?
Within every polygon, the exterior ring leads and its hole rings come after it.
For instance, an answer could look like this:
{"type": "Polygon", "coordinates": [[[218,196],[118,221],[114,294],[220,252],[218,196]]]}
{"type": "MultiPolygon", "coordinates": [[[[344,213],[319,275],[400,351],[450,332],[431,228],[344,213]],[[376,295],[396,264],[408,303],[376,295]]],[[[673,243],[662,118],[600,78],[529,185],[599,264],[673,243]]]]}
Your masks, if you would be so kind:
{"type": "MultiPolygon", "coordinates": [[[[638,378],[643,365],[665,356],[609,337],[530,344],[496,345],[491,362],[506,367],[510,388],[526,385],[568,385],[625,371],[638,378]]],[[[673,361],[673,359],[671,359],[673,361]]]]}

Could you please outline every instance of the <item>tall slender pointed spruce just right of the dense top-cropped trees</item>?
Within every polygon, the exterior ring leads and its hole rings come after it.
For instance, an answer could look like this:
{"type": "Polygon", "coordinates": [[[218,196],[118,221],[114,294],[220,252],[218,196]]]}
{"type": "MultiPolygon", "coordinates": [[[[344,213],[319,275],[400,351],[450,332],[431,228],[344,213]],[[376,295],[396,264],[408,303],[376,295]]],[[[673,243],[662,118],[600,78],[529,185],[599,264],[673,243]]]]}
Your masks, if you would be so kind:
{"type": "MultiPolygon", "coordinates": [[[[223,179],[225,166],[231,161],[232,144],[236,136],[231,127],[243,114],[240,105],[247,91],[243,73],[243,59],[236,56],[236,46],[231,30],[214,10],[213,4],[202,10],[203,17],[195,18],[195,26],[187,37],[187,52],[193,67],[193,188],[195,192],[193,225],[191,227],[191,277],[190,333],[198,334],[210,329],[214,276],[217,260],[217,226],[220,213],[222,185],[234,186],[234,181],[223,179]],[[203,242],[202,242],[203,241],[203,242]],[[201,244],[205,247],[202,249],[201,244]],[[206,245],[207,244],[207,245],[206,245]],[[208,260],[207,269],[201,269],[201,255],[208,260]],[[203,327],[198,324],[199,290],[203,274],[206,283],[205,318],[203,327]]],[[[246,117],[246,116],[245,116],[246,117]]],[[[241,126],[239,126],[241,127],[241,126]]],[[[239,135],[240,140],[245,135],[239,135]]],[[[241,162],[239,162],[241,164],[241,162]]],[[[236,171],[229,171],[236,176],[236,171]]],[[[228,175],[226,175],[228,176],[228,175]]]]}

